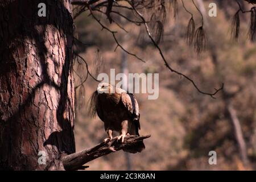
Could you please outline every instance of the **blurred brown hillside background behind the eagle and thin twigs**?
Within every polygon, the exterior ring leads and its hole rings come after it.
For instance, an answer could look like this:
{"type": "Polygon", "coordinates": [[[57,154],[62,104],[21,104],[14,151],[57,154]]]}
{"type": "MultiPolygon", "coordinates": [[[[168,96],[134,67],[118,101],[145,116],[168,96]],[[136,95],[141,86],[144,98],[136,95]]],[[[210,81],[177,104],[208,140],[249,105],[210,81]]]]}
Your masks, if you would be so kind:
{"type": "MultiPolygon", "coordinates": [[[[117,24],[97,13],[108,28],[118,31],[120,44],[146,63],[127,55],[118,47],[112,34],[88,12],[76,18],[76,52],[84,57],[89,71],[98,73],[159,73],[159,98],[148,100],[147,94],[135,94],[141,111],[141,135],[146,150],[140,154],[118,151],[87,163],[87,170],[255,170],[256,169],[256,44],[247,39],[250,14],[240,15],[238,42],[230,38],[232,18],[239,9],[236,1],[195,1],[204,14],[208,50],[198,55],[186,43],[187,25],[191,15],[178,1],[177,15],[167,7],[164,33],[159,47],[168,63],[177,71],[192,78],[205,92],[214,92],[224,82],[223,92],[213,99],[200,94],[191,82],[170,72],[145,34],[124,18],[112,15],[117,24]],[[217,5],[217,17],[209,17],[209,3],[217,5]],[[82,44],[82,43],[84,44],[82,44]],[[208,163],[209,151],[217,152],[217,164],[208,163]]],[[[240,1],[244,9],[251,5],[240,1]]],[[[122,3],[122,2],[121,2],[122,3]]],[[[194,15],[196,28],[201,16],[192,1],[184,1],[194,15]]],[[[113,7],[114,9],[114,7],[113,7]]],[[[102,11],[105,11],[102,9],[102,11]]],[[[121,11],[117,9],[117,11],[121,11]]],[[[133,18],[125,10],[121,11],[133,18]]],[[[86,77],[85,64],[75,62],[76,85],[86,77]]],[[[86,114],[86,104],[97,88],[88,77],[76,88],[76,150],[95,146],[106,138],[104,123],[86,114]]],[[[115,134],[117,135],[117,134],[115,134]]]]}

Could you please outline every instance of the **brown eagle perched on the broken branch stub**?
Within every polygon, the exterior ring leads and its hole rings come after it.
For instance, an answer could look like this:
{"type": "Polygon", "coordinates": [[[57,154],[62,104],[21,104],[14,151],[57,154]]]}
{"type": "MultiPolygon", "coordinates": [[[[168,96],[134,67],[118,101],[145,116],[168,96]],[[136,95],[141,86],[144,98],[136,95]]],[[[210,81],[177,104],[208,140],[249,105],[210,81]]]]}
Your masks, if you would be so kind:
{"type": "MultiPolygon", "coordinates": [[[[97,90],[90,99],[90,114],[98,117],[104,122],[108,138],[113,138],[113,131],[118,131],[117,140],[124,141],[127,135],[138,135],[141,125],[139,123],[139,105],[132,93],[126,92],[106,82],[98,84],[97,90]]],[[[145,148],[144,143],[137,142],[132,148],[125,148],[124,151],[136,153],[145,148]]]]}

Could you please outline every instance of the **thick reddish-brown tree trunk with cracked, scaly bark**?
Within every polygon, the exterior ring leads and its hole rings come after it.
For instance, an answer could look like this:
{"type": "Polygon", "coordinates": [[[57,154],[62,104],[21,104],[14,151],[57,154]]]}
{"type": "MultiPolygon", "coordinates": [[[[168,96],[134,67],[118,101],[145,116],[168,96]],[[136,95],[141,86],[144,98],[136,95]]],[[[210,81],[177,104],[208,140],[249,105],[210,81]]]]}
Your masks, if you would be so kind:
{"type": "Polygon", "coordinates": [[[0,42],[0,169],[64,169],[75,152],[70,2],[1,1],[0,42]]]}

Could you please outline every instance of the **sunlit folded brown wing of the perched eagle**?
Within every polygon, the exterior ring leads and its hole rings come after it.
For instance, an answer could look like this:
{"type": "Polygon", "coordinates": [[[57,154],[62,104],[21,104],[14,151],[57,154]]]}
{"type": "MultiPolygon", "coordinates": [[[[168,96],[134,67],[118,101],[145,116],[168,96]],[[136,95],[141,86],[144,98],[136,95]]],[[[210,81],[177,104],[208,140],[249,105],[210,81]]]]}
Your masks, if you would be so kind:
{"type": "Polygon", "coordinates": [[[139,105],[134,94],[122,93],[121,100],[127,111],[129,111],[132,120],[136,122],[135,124],[137,125],[138,129],[141,129],[139,124],[139,105]]]}

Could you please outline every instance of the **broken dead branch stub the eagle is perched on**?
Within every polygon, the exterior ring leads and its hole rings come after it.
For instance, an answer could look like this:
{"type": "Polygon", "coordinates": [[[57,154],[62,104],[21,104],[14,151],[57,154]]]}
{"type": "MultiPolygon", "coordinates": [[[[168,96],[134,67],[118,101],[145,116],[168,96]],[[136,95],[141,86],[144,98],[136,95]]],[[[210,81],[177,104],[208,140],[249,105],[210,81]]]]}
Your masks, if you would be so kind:
{"type": "Polygon", "coordinates": [[[150,136],[151,135],[130,135],[125,137],[125,141],[123,143],[117,141],[117,137],[115,137],[109,142],[102,142],[92,148],[64,156],[62,159],[63,166],[66,170],[81,169],[82,165],[90,162],[91,160],[100,158],[101,156],[108,155],[124,148],[131,148],[135,143],[141,142],[143,139],[149,138],[150,136]]]}

